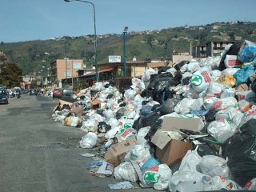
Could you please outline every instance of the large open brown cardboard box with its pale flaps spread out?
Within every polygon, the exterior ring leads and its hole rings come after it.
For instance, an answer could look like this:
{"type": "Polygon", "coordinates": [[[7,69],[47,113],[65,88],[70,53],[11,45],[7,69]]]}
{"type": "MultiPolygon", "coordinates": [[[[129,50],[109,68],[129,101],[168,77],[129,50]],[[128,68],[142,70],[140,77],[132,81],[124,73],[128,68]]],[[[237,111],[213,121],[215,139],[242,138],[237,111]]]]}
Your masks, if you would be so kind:
{"type": "Polygon", "coordinates": [[[166,133],[171,130],[198,130],[199,118],[164,117],[162,127],[154,134],[151,142],[157,146],[156,157],[162,163],[171,166],[181,161],[187,150],[192,149],[192,142],[171,139],[166,133]]]}

